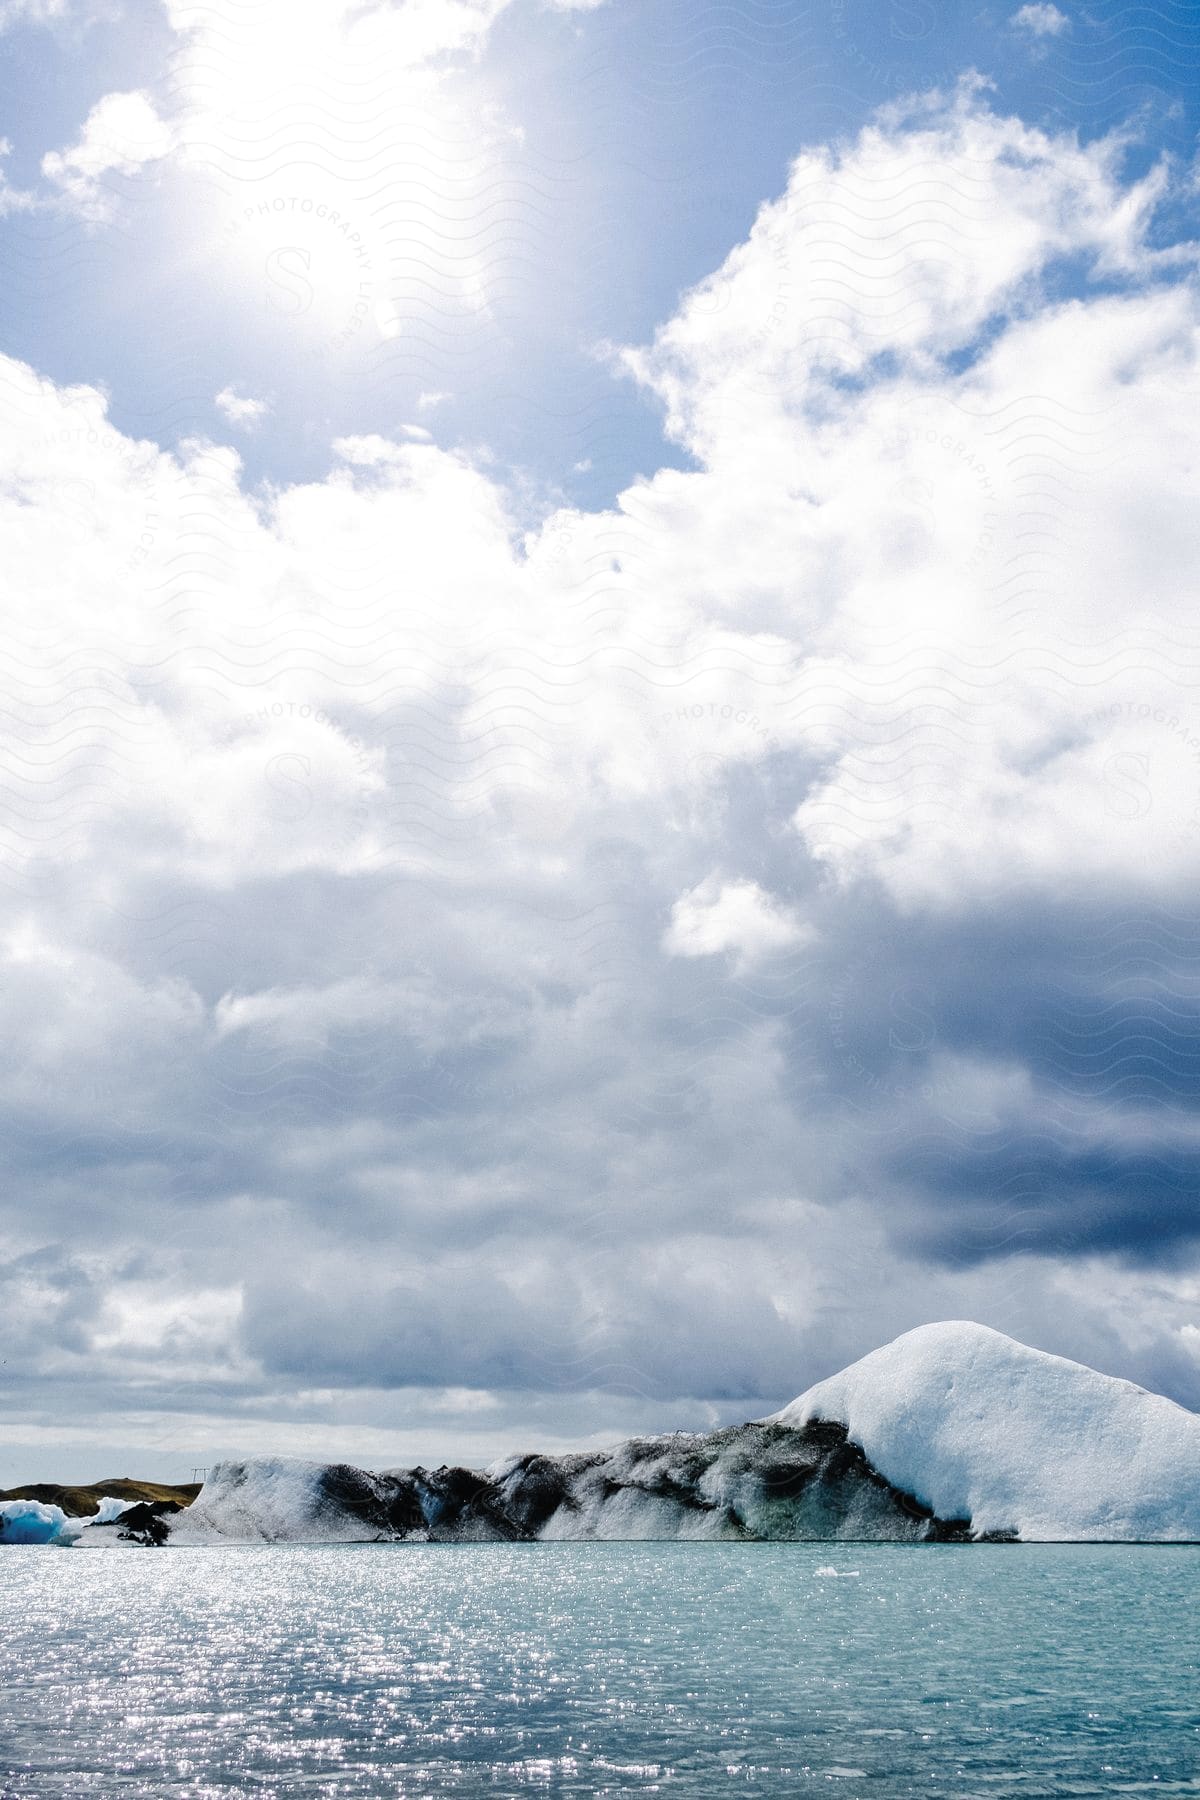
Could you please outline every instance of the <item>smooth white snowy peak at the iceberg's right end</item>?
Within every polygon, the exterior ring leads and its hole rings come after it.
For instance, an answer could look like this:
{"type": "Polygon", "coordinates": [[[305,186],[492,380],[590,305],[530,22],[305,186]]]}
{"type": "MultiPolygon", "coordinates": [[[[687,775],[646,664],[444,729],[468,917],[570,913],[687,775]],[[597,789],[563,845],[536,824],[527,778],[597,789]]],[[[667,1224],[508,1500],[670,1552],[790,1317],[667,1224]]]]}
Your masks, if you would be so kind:
{"type": "Polygon", "coordinates": [[[813,1420],[977,1535],[1200,1539],[1200,1415],[986,1325],[905,1332],[774,1415],[813,1420]]]}

